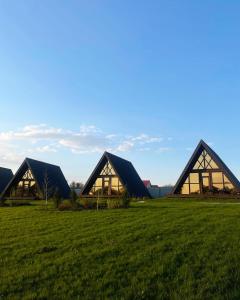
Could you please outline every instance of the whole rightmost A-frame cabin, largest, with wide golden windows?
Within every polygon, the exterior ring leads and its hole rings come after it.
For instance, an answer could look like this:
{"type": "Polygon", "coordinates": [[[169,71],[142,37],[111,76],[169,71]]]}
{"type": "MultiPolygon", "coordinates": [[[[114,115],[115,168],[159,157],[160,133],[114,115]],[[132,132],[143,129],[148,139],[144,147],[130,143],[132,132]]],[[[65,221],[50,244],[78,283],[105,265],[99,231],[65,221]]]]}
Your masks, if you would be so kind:
{"type": "Polygon", "coordinates": [[[201,140],[173,194],[192,195],[239,195],[240,182],[221,158],[201,140]]]}

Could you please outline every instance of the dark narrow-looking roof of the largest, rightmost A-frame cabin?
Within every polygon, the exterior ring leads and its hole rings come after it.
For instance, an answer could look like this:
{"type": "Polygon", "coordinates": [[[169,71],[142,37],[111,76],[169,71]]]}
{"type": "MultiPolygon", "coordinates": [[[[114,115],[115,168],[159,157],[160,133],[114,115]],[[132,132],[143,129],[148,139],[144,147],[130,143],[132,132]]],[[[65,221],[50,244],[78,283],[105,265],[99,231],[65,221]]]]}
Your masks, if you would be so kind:
{"type": "Polygon", "coordinates": [[[229,178],[232,184],[235,186],[237,190],[240,190],[240,182],[236,178],[236,176],[232,173],[232,171],[226,166],[226,164],[222,161],[222,159],[217,155],[217,153],[210,148],[203,140],[201,140],[195,149],[193,155],[191,156],[189,162],[187,163],[185,169],[183,170],[180,178],[178,179],[176,185],[173,188],[173,194],[178,193],[179,188],[183,185],[185,180],[187,179],[189,173],[193,169],[195,163],[197,162],[199,156],[202,151],[206,150],[207,153],[212,157],[215,163],[219,166],[219,168],[225,173],[225,175],[229,178]]]}

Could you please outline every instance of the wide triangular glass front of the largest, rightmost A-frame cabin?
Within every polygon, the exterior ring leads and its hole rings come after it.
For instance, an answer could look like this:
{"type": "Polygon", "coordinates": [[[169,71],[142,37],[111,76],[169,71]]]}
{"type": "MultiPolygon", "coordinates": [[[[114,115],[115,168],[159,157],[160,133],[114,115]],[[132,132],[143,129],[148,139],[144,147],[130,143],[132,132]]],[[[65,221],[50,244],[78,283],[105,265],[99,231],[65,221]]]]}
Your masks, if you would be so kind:
{"type": "Polygon", "coordinates": [[[180,194],[231,194],[233,184],[204,150],[183,183],[180,194]]]}

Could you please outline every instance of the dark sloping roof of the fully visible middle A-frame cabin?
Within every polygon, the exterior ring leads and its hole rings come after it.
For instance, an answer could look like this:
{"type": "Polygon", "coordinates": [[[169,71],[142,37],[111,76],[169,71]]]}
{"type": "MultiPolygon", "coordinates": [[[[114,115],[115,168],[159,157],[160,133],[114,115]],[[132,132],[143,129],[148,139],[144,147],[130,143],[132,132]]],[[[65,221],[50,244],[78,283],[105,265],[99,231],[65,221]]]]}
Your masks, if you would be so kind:
{"type": "Polygon", "coordinates": [[[85,184],[81,193],[82,195],[87,195],[89,193],[107,161],[111,163],[114,171],[117,176],[119,176],[119,179],[131,197],[151,197],[132,163],[109,152],[104,152],[102,158],[85,184]]]}

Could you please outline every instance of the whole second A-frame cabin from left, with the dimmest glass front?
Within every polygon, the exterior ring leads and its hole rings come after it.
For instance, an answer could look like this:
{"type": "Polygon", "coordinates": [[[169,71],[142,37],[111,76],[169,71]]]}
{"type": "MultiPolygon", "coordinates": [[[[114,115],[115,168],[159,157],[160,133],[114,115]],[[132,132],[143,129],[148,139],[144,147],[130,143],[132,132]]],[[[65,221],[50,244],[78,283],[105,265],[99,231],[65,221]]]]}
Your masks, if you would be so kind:
{"type": "Polygon", "coordinates": [[[60,167],[26,158],[1,194],[6,199],[44,199],[58,190],[69,198],[70,188],[60,167]]]}

